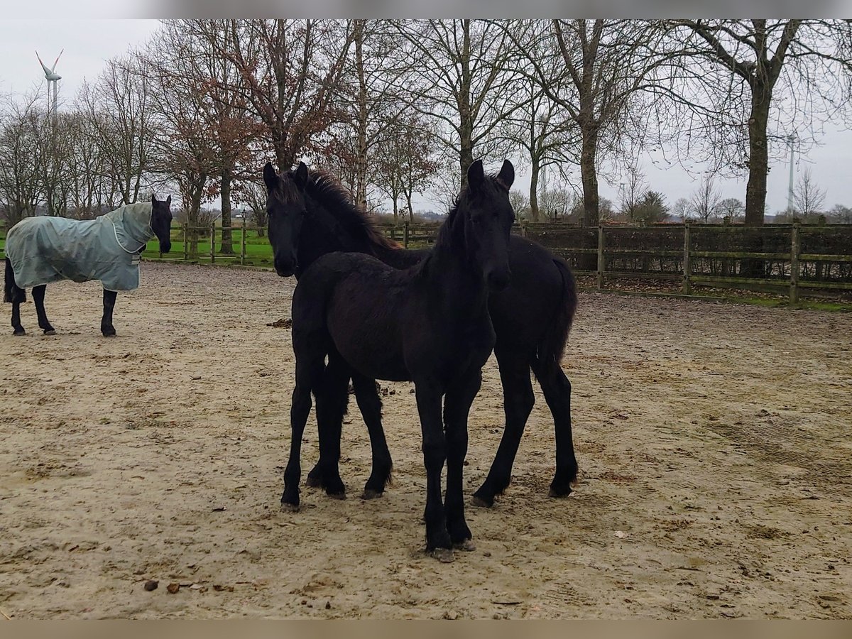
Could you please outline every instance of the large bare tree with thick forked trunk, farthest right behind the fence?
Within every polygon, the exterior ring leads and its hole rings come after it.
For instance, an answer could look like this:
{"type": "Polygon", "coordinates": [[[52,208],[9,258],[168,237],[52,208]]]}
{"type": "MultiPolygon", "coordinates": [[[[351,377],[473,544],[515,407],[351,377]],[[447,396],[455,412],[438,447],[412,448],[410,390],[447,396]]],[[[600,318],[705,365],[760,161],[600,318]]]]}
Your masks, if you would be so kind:
{"type": "Polygon", "coordinates": [[[746,225],[759,226],[770,119],[786,134],[793,117],[799,126],[812,126],[816,118],[849,113],[852,21],[665,20],[665,26],[684,60],[672,82],[691,78],[700,87],[699,97],[682,103],[709,120],[701,137],[711,153],[747,170],[746,225]]]}

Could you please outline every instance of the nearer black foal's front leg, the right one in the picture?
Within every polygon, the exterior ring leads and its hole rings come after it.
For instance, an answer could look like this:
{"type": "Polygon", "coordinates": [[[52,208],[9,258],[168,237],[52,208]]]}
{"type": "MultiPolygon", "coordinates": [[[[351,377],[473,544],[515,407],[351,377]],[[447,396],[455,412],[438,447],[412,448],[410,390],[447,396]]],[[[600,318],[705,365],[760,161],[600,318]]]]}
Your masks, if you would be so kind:
{"type": "Polygon", "coordinates": [[[464,521],[463,469],[468,453],[468,414],[482,385],[482,371],[475,369],[450,385],[444,399],[446,425],[446,527],[454,547],[474,550],[473,535],[464,521]]]}

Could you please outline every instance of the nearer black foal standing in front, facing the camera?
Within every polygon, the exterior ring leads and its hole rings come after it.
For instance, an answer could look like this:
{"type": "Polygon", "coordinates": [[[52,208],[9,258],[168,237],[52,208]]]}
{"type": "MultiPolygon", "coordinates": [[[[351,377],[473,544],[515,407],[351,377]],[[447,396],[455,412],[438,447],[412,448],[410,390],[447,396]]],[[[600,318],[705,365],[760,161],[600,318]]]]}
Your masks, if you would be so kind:
{"type": "MultiPolygon", "coordinates": [[[[462,497],[467,420],[482,365],[496,339],[488,291],[509,284],[509,236],[515,220],[509,187],[514,179],[508,160],[497,176],[486,176],[481,160],[471,164],[468,186],[440,227],[435,248],[412,268],[392,268],[363,253],[335,252],[302,273],[293,293],[296,388],[282,504],[299,504],[299,458],[312,392],[320,427],[320,473],[330,486],[340,482],[340,423],[349,378],[412,380],[423,431],[427,550],[448,561],[453,546],[471,547],[462,497]],[[445,461],[443,504],[440,474],[445,461]]],[[[287,187],[279,182],[270,199],[282,204],[302,199],[299,191],[287,187]]],[[[342,491],[343,483],[337,487],[342,491]]]]}

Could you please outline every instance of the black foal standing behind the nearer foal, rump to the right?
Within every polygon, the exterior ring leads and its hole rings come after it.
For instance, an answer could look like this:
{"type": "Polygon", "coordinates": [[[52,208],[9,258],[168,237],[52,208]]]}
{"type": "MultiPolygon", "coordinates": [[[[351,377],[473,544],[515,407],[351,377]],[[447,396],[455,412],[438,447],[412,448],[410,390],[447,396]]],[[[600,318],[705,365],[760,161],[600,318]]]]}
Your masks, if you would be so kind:
{"type": "MultiPolygon", "coordinates": [[[[331,176],[309,171],[305,164],[281,176],[272,164],[263,169],[268,198],[269,239],[275,269],[287,277],[302,273],[320,256],[335,250],[375,256],[395,268],[410,268],[429,256],[429,250],[404,250],[377,231],[370,218],[351,204],[351,197],[331,176]],[[283,190],[297,193],[283,201],[272,197],[283,190]]],[[[488,298],[497,343],[494,354],[504,392],[505,429],[486,481],[474,493],[474,504],[491,506],[509,486],[515,454],[521,443],[534,395],[530,370],[538,379],[553,414],[556,431],[556,475],[552,497],[566,496],[577,478],[571,431],[571,383],[560,366],[568,331],[577,308],[577,289],[567,264],[549,250],[513,234],[509,240],[512,281],[488,298]]],[[[355,398],[370,431],[372,473],[366,498],[381,494],[389,479],[391,461],[381,422],[381,403],[375,385],[353,379],[355,398]]],[[[318,468],[308,484],[322,483],[318,468]]],[[[330,493],[342,488],[325,486],[330,493]]]]}

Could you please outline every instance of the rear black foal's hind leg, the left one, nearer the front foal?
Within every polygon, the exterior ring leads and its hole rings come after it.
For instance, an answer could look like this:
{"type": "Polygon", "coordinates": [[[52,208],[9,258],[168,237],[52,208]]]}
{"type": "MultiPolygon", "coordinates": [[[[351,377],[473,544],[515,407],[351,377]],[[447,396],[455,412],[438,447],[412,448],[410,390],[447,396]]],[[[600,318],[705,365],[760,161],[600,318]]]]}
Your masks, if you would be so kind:
{"type": "Polygon", "coordinates": [[[503,383],[503,408],[506,425],[503,438],[486,480],[472,498],[475,506],[494,505],[494,497],[502,494],[512,479],[512,465],[521,436],[527,425],[527,417],[533,410],[535,395],[530,381],[529,356],[514,348],[505,348],[499,344],[494,347],[500,368],[500,381],[503,383]]]}

